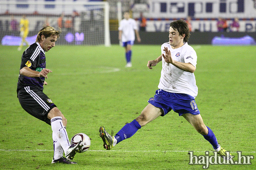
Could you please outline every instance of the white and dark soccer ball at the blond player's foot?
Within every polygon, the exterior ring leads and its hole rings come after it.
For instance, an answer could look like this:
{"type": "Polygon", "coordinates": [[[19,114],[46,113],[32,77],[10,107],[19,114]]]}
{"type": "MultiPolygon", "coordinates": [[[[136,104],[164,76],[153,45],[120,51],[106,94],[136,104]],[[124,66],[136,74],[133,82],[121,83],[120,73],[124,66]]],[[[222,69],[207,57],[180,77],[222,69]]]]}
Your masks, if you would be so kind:
{"type": "Polygon", "coordinates": [[[75,136],[71,138],[70,144],[77,144],[80,141],[82,141],[81,144],[83,144],[84,146],[78,153],[83,153],[87,151],[90,147],[90,138],[84,133],[77,133],[75,136]]]}

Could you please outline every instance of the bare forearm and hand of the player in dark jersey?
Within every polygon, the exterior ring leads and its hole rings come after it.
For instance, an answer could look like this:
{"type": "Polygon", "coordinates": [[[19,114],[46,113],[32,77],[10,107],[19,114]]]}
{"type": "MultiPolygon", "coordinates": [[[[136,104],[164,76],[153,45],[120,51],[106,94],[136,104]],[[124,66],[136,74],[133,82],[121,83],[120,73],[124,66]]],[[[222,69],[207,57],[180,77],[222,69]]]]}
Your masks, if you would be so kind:
{"type": "Polygon", "coordinates": [[[43,69],[42,71],[34,71],[30,69],[29,67],[23,67],[20,69],[20,74],[26,77],[47,77],[48,73],[51,73],[52,71],[48,68],[43,69]]]}

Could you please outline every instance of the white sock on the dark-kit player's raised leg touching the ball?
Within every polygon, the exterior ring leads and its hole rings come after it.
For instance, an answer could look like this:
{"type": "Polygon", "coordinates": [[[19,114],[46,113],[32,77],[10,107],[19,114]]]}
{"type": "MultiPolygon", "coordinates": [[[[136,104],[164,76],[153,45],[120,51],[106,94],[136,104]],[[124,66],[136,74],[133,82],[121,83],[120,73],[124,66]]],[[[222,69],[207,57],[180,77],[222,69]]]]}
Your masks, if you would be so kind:
{"type": "Polygon", "coordinates": [[[58,142],[61,144],[61,147],[63,148],[66,154],[67,149],[70,147],[70,142],[67,136],[66,128],[64,128],[64,125],[62,123],[61,116],[56,116],[52,118],[51,125],[52,125],[52,133],[55,134],[58,142]]]}

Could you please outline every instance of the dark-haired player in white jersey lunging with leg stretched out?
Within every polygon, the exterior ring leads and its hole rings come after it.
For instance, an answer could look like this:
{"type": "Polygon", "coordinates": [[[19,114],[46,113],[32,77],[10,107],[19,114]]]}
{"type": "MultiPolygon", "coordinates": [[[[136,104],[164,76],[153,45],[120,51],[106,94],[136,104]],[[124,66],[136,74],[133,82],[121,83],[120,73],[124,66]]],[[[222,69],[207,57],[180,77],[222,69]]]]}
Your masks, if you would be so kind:
{"type": "Polygon", "coordinates": [[[197,64],[195,50],[188,45],[189,27],[184,20],[176,20],[170,23],[169,42],[161,46],[162,54],[155,60],[148,61],[148,68],[156,66],[162,61],[162,71],[159,90],[154,97],[148,100],[148,105],[141,112],[140,116],[131,123],[126,124],[116,133],[108,134],[102,126],[99,129],[104,148],[110,150],[117,143],[134,135],[141,127],[164,116],[173,110],[183,116],[204,138],[212,144],[217,153],[229,159],[229,152],[226,153],[217,142],[212,130],[204,125],[200,111],[195,103],[198,88],[195,84],[194,71],[197,64]]]}

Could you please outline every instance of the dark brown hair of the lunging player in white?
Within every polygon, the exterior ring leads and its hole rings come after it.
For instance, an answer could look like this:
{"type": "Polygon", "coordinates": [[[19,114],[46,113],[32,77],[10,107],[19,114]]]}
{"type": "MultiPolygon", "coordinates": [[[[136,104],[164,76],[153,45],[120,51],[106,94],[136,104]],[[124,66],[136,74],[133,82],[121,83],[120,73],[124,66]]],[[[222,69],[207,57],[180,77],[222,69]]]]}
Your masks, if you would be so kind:
{"type": "Polygon", "coordinates": [[[179,35],[185,34],[185,37],[183,40],[184,42],[189,41],[189,37],[190,37],[189,26],[185,20],[172,21],[172,23],[170,23],[170,27],[172,27],[174,30],[178,31],[179,35]]]}

